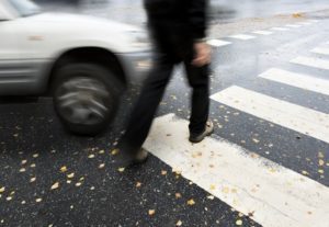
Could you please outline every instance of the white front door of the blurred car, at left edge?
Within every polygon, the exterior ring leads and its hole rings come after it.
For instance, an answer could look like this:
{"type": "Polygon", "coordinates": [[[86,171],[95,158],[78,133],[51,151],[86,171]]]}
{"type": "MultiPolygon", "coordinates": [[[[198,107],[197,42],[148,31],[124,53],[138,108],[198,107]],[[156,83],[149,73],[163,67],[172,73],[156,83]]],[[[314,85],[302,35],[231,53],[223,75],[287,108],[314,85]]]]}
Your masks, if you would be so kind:
{"type": "Polygon", "coordinates": [[[3,9],[0,4],[0,95],[38,93],[43,84],[33,52],[36,37],[27,32],[25,18],[10,18],[3,9]]]}

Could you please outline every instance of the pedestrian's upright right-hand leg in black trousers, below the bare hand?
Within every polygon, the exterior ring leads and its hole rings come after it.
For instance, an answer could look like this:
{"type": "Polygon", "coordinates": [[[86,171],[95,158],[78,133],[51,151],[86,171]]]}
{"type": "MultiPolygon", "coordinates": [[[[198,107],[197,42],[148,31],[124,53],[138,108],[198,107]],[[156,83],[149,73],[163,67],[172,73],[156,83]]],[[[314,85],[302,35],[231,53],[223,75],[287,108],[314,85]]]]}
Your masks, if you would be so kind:
{"type": "Polygon", "coordinates": [[[190,134],[198,135],[205,130],[209,111],[209,66],[195,67],[188,59],[184,61],[190,86],[193,88],[190,134]]]}

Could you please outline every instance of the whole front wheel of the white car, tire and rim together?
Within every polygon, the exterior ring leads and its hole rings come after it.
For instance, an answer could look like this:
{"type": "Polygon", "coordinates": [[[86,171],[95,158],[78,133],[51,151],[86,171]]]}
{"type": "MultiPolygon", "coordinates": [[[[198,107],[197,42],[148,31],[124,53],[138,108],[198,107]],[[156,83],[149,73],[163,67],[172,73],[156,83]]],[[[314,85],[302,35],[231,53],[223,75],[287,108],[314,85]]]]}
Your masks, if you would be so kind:
{"type": "Polygon", "coordinates": [[[69,132],[94,136],[114,118],[122,88],[103,66],[69,64],[55,75],[54,107],[69,132]]]}

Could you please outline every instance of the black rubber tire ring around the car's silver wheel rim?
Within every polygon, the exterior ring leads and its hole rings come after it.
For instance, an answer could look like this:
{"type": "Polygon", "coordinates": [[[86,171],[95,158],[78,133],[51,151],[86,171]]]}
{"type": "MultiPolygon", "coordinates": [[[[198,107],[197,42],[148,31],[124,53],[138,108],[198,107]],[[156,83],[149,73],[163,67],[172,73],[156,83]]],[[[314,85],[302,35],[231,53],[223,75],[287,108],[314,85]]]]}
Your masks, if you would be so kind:
{"type": "Polygon", "coordinates": [[[114,77],[111,70],[103,66],[89,63],[75,63],[63,66],[56,71],[52,87],[54,107],[65,128],[73,134],[86,136],[95,136],[109,127],[117,111],[118,100],[123,89],[121,82],[114,77]],[[109,98],[104,101],[104,105],[109,109],[109,112],[106,112],[102,122],[98,124],[75,123],[70,122],[61,113],[58,101],[59,98],[57,97],[59,89],[65,82],[75,78],[91,78],[92,80],[101,82],[106,88],[109,98]]]}

